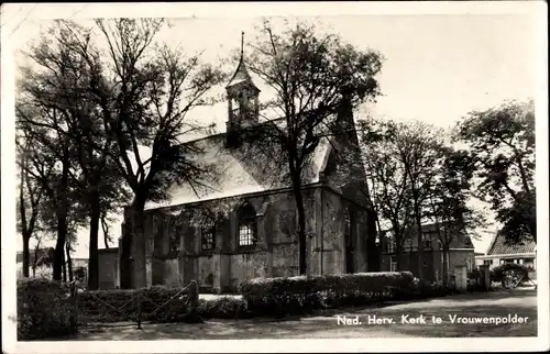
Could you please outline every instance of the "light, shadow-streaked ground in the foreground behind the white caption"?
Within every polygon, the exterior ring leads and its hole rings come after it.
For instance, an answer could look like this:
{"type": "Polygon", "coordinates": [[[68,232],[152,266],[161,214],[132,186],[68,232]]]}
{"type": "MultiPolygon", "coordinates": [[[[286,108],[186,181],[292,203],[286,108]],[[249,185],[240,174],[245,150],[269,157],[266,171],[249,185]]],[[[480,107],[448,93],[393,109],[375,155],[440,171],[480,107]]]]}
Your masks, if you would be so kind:
{"type": "Polygon", "coordinates": [[[82,329],[77,340],[224,340],[224,339],[329,339],[329,338],[452,338],[536,336],[537,292],[532,289],[464,294],[444,298],[324,311],[311,317],[285,320],[209,320],[200,324],[168,323],[82,329]],[[402,316],[424,316],[426,324],[402,323],[402,316]],[[462,318],[527,317],[526,323],[458,324],[449,316],[462,318]],[[359,317],[361,324],[338,324],[338,317],[359,317]],[[369,324],[369,317],[393,319],[394,323],[369,324]],[[442,319],[431,323],[431,317],[442,319]]]}

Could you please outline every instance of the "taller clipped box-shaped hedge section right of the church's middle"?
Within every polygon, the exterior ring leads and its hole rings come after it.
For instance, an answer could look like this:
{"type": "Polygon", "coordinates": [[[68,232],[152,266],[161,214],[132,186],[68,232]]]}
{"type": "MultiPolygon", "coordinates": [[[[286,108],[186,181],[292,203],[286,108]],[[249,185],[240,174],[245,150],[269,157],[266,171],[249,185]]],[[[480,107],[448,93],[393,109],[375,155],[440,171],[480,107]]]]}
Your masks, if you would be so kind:
{"type": "Polygon", "coordinates": [[[255,316],[284,317],[396,299],[411,291],[413,280],[410,272],[256,278],[239,290],[255,316]]]}

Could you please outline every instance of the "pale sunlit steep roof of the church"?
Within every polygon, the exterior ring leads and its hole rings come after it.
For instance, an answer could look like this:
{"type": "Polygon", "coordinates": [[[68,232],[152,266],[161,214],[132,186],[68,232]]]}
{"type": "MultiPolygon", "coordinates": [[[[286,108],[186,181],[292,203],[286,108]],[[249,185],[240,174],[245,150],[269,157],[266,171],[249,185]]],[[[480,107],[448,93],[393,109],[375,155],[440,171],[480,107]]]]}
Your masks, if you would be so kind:
{"type": "MultiPolygon", "coordinates": [[[[205,181],[205,187],[193,188],[185,184],[174,186],[168,192],[170,198],[164,202],[146,204],[145,209],[170,207],[197,201],[234,197],[244,193],[261,192],[290,187],[288,167],[273,150],[266,151],[257,145],[242,144],[239,147],[226,147],[226,133],[211,135],[197,141],[199,152],[194,156],[198,163],[213,169],[212,177],[205,181]]],[[[332,145],[323,139],[306,164],[302,184],[319,181],[332,145]]]]}

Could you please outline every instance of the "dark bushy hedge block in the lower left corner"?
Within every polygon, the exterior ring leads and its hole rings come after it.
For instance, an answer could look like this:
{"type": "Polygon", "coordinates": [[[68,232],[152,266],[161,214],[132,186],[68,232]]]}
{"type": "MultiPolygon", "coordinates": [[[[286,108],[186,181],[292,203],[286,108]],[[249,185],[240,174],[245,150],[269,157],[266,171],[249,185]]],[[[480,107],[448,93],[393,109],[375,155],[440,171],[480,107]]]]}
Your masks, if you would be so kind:
{"type": "Polygon", "coordinates": [[[18,339],[20,341],[74,334],[72,305],[66,288],[43,278],[18,280],[18,339]]]}

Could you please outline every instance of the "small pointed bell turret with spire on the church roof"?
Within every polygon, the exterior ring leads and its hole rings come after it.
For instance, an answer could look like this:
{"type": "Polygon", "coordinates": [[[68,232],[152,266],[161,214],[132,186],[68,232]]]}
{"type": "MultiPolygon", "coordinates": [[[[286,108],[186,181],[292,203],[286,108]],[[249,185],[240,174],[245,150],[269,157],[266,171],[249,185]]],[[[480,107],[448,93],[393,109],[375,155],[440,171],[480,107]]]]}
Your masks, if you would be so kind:
{"type": "Polygon", "coordinates": [[[241,58],[235,74],[226,87],[228,92],[228,140],[238,139],[239,130],[257,123],[260,89],[254,85],[244,64],[244,32],[241,33],[241,58]]]}

